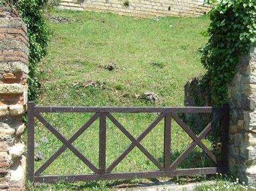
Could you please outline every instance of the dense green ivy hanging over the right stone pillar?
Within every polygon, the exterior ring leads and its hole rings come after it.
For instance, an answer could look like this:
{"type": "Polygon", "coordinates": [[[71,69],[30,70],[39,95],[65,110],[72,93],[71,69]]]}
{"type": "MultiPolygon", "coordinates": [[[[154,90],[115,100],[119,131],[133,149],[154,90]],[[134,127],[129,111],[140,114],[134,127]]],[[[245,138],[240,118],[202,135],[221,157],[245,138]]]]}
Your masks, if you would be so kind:
{"type": "Polygon", "coordinates": [[[212,98],[221,105],[228,102],[227,83],[237,73],[240,56],[255,42],[256,4],[254,0],[206,2],[215,6],[210,11],[210,27],[203,33],[210,39],[202,49],[201,62],[212,84],[212,98]]]}

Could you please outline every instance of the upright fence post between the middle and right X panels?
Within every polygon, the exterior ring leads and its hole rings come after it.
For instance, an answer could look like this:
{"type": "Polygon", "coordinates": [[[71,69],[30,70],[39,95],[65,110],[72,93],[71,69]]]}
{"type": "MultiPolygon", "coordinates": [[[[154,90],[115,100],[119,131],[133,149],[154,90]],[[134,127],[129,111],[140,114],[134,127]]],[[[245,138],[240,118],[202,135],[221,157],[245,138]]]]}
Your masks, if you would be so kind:
{"type": "Polygon", "coordinates": [[[167,112],[164,119],[164,168],[169,171],[171,166],[171,113],[167,112]]]}

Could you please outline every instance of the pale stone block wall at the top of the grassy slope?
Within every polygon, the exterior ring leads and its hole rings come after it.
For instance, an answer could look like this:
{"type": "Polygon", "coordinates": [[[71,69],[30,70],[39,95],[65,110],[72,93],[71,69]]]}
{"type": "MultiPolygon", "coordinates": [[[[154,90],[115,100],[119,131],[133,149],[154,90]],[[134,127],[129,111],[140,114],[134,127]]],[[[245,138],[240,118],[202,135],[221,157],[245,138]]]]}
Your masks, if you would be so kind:
{"type": "Polygon", "coordinates": [[[59,8],[112,12],[131,17],[195,17],[204,15],[210,6],[204,0],[62,0],[59,8]],[[129,2],[129,5],[125,5],[129,2]]]}

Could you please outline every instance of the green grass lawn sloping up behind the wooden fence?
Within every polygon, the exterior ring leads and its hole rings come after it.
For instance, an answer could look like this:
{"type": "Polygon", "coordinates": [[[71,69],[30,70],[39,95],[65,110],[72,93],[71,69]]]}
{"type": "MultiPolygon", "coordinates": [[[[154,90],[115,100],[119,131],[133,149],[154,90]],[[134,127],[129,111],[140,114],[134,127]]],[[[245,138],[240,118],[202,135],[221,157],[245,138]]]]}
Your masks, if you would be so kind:
{"type": "MultiPolygon", "coordinates": [[[[41,74],[38,77],[42,81],[42,88],[36,101],[38,105],[179,107],[184,105],[185,83],[191,77],[204,73],[198,49],[207,42],[207,38],[201,36],[200,32],[207,29],[208,17],[164,17],[157,21],[86,11],[54,10],[50,14],[76,19],[76,22],[49,22],[54,33],[48,55],[39,66],[41,74]],[[115,67],[111,71],[104,68],[110,63],[115,67]],[[86,87],[90,82],[95,82],[96,86],[86,87]],[[159,102],[152,104],[143,100],[142,95],[146,91],[156,93],[159,102]]],[[[44,116],[68,139],[92,115],[44,116]]],[[[134,137],[138,137],[157,117],[157,114],[113,115],[134,137]]],[[[96,121],[73,143],[96,166],[98,126],[99,122],[96,121]]],[[[172,121],[171,160],[174,161],[191,141],[172,121]]],[[[35,162],[36,169],[62,146],[41,123],[36,125],[36,143],[39,145],[35,149],[36,154],[39,151],[44,153],[44,159],[35,162]],[[40,142],[43,137],[48,140],[40,142]]],[[[110,165],[130,143],[107,120],[106,165],[110,165]]],[[[163,164],[164,121],[141,143],[163,164]]],[[[211,148],[207,139],[203,143],[211,148]]],[[[196,147],[178,168],[211,165],[205,153],[196,147]]],[[[138,148],[134,148],[112,172],[157,169],[138,148]]],[[[42,175],[78,173],[91,171],[71,151],[66,150],[42,175]]],[[[69,183],[65,184],[65,188],[100,189],[118,183],[119,181],[69,183]]],[[[50,187],[57,188],[56,185],[37,185],[37,188],[50,187]]]]}

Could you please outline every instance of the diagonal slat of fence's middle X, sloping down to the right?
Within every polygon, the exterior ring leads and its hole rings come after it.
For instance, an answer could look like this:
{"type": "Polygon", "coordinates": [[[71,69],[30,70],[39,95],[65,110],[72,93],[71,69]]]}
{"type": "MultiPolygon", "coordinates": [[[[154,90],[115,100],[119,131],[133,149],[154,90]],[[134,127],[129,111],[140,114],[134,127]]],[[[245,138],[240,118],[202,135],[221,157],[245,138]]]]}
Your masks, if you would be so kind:
{"type": "Polygon", "coordinates": [[[142,144],[140,144],[138,142],[137,139],[135,139],[131,133],[129,133],[122,124],[120,124],[111,114],[107,114],[107,117],[120,129],[120,131],[122,131],[124,133],[124,135],[126,137],[128,137],[132,144],[134,144],[135,146],[137,146],[139,148],[140,151],[142,151],[147,158],[149,158],[154,165],[156,165],[160,170],[164,171],[164,167],[146,150],[145,147],[142,146],[142,144]]]}

